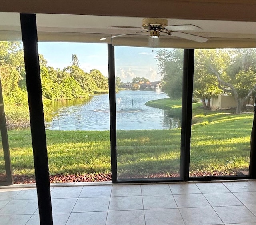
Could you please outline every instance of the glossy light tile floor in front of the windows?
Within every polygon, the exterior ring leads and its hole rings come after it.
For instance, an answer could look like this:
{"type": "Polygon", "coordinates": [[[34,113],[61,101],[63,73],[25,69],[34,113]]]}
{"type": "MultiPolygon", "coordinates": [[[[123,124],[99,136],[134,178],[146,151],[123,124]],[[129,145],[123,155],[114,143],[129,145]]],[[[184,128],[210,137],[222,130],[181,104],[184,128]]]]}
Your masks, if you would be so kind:
{"type": "MultiPolygon", "coordinates": [[[[256,224],[256,182],[51,188],[55,225],[256,224]]],[[[37,225],[35,188],[0,189],[0,225],[37,225]]]]}

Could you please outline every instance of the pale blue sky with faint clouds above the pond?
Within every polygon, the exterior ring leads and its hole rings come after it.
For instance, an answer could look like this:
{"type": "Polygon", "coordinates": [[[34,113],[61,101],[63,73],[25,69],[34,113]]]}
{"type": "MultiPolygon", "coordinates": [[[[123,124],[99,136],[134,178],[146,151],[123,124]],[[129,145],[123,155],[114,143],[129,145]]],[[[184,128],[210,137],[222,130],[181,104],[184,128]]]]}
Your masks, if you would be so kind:
{"type": "MultiPolygon", "coordinates": [[[[150,81],[160,80],[154,48],[115,46],[116,76],[123,82],[134,77],[146,77],[150,81]]],[[[71,63],[72,54],[79,59],[80,68],[85,72],[97,69],[108,77],[107,44],[73,42],[38,42],[38,52],[44,55],[47,65],[63,69],[71,63]]]]}

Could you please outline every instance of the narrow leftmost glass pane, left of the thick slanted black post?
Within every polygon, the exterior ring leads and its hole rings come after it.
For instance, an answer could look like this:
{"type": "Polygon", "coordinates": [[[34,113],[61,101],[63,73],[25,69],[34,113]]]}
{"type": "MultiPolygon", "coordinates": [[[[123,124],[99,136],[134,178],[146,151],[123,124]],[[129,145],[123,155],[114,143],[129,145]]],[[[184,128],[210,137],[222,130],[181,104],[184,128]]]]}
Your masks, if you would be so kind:
{"type": "Polygon", "coordinates": [[[0,13],[0,70],[14,183],[35,183],[20,14],[0,13]]]}

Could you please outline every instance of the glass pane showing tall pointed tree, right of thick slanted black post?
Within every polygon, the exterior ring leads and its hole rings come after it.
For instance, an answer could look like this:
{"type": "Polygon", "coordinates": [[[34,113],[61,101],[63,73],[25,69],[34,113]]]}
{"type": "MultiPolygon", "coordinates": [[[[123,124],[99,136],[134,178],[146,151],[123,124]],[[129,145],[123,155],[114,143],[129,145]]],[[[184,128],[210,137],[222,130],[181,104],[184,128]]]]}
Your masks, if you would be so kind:
{"type": "Polygon", "coordinates": [[[50,181],[111,181],[107,44],[38,42],[38,51],[50,181]]]}

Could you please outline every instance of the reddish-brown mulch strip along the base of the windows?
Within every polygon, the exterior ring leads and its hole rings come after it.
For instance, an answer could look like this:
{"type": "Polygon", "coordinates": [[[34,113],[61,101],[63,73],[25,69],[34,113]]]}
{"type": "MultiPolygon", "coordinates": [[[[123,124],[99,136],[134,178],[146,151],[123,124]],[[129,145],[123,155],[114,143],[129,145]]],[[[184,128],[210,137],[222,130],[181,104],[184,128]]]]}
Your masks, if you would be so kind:
{"type": "MultiPolygon", "coordinates": [[[[213,171],[212,173],[207,172],[194,172],[190,173],[191,177],[202,177],[202,176],[227,176],[227,175],[237,175],[236,172],[219,172],[213,171]]],[[[118,175],[120,179],[129,178],[164,178],[164,177],[179,177],[179,173],[154,173],[150,175],[118,175]]],[[[0,174],[0,180],[4,181],[3,174],[0,174]]],[[[35,176],[28,175],[14,175],[13,176],[15,184],[23,183],[36,183],[35,176]]],[[[50,183],[69,183],[69,182],[104,182],[111,181],[111,173],[98,173],[98,174],[56,174],[50,175],[50,183]]]]}

